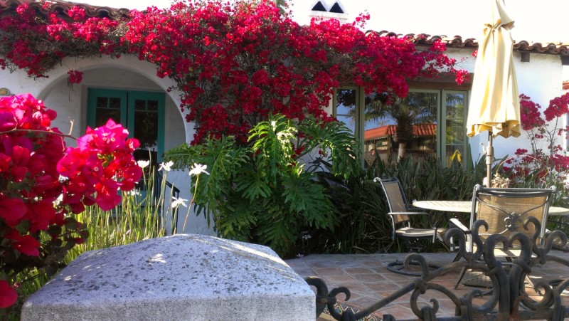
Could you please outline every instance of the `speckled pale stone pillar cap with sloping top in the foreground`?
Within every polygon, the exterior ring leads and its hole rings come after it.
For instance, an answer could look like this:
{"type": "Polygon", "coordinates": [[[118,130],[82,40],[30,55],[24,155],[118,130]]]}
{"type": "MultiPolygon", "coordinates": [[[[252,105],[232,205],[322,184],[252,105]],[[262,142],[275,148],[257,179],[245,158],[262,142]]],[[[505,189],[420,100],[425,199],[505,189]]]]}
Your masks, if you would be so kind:
{"type": "Polygon", "coordinates": [[[314,320],[314,301],[270,248],[191,234],[83,253],[21,320],[314,320]]]}

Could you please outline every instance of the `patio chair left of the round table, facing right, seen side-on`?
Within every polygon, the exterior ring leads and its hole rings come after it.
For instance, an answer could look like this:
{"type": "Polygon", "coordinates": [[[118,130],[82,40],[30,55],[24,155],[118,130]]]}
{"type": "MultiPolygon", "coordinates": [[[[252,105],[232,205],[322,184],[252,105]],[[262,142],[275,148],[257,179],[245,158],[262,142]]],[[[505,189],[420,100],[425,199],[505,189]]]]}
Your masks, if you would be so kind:
{"type": "MultiPolygon", "coordinates": [[[[387,204],[389,207],[388,215],[391,221],[391,236],[393,242],[395,242],[397,238],[400,238],[403,240],[405,247],[410,251],[420,252],[425,248],[425,244],[422,243],[424,240],[429,240],[433,243],[437,239],[443,241],[442,235],[447,231],[447,229],[432,226],[432,216],[429,213],[419,211],[418,209],[409,206],[407,198],[405,197],[405,191],[403,191],[403,186],[401,186],[400,181],[396,177],[388,179],[376,177],[373,181],[381,184],[385,197],[387,198],[387,204]],[[428,216],[431,228],[413,227],[411,224],[411,216],[415,215],[428,216]]],[[[431,265],[430,268],[438,267],[431,265]]],[[[389,263],[388,270],[405,275],[420,275],[420,273],[407,272],[403,270],[403,263],[401,262],[389,263]]]]}

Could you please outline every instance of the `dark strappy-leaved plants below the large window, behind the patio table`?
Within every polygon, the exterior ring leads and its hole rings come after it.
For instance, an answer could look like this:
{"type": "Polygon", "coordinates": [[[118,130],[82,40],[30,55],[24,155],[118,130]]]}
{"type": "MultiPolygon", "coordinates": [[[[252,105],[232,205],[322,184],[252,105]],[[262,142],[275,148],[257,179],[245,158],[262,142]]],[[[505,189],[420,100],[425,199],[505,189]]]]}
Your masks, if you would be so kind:
{"type": "MultiPolygon", "coordinates": [[[[469,161],[470,162],[470,161],[469,161]]],[[[435,158],[415,160],[401,159],[398,164],[379,161],[357,177],[345,181],[319,174],[319,181],[326,186],[337,211],[339,226],[332,231],[312,229],[309,246],[305,252],[312,253],[386,253],[405,251],[391,239],[391,223],[383,190],[374,177],[398,177],[408,196],[413,199],[469,200],[475,184],[482,182],[484,161],[474,169],[464,169],[454,163],[445,167],[435,158]]],[[[448,226],[449,217],[440,213],[435,216],[435,225],[448,226]]],[[[415,221],[418,226],[428,226],[428,221],[415,221]]],[[[427,251],[442,251],[440,243],[425,244],[427,251]]]]}

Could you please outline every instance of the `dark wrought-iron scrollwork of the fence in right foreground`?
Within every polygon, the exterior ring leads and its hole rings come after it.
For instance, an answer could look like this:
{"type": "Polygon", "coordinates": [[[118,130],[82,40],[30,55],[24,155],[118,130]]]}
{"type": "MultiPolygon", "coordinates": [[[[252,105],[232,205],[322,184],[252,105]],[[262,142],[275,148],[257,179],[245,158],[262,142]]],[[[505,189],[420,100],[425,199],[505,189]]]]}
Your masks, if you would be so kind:
{"type": "MultiPolygon", "coordinates": [[[[527,275],[531,275],[532,268],[537,264],[546,262],[556,262],[568,267],[569,261],[557,256],[551,256],[550,251],[553,242],[558,244],[567,243],[567,236],[562,231],[548,233],[546,239],[539,240],[541,223],[530,216],[524,222],[524,228],[528,229],[528,224],[535,226],[536,231],[533,236],[528,237],[523,233],[514,233],[509,238],[500,234],[488,236],[482,241],[479,234],[481,228],[488,229],[486,221],[475,221],[472,229],[472,239],[476,244],[476,251],[467,251],[467,238],[459,228],[450,228],[445,233],[445,242],[450,245],[452,238],[459,241],[458,260],[443,265],[437,270],[428,268],[425,258],[418,253],[410,253],[405,257],[405,268],[409,268],[411,263],[420,265],[422,275],[414,278],[408,285],[398,290],[396,293],[379,300],[370,307],[366,307],[356,313],[346,310],[343,313],[336,312],[336,295],[344,293],[345,300],[349,300],[350,291],[340,287],[328,291],[328,287],[323,280],[317,277],[308,277],[305,280],[317,290],[317,317],[328,307],[332,317],[336,320],[359,320],[371,313],[380,310],[390,302],[397,300],[410,293],[410,307],[417,316],[416,320],[563,320],[569,317],[569,307],[565,307],[561,300],[561,293],[569,287],[569,278],[559,280],[557,284],[550,284],[544,280],[534,283],[534,288],[541,293],[541,300],[533,300],[526,293],[524,280],[527,275]],[[494,249],[507,250],[516,244],[521,251],[518,258],[511,261],[509,272],[506,273],[502,262],[494,256],[494,249]],[[472,291],[458,297],[453,290],[444,286],[432,283],[437,277],[450,271],[460,271],[467,268],[484,273],[491,280],[491,290],[482,291],[473,288],[472,291]],[[427,290],[434,290],[442,295],[446,295],[454,303],[454,317],[437,317],[440,312],[440,305],[436,298],[430,299],[431,305],[422,302],[420,307],[418,299],[425,295],[427,290]],[[473,302],[475,298],[484,297],[484,304],[477,305],[473,302]]],[[[422,298],[428,299],[428,298],[422,298]]],[[[393,315],[383,315],[383,320],[395,320],[393,315]]]]}

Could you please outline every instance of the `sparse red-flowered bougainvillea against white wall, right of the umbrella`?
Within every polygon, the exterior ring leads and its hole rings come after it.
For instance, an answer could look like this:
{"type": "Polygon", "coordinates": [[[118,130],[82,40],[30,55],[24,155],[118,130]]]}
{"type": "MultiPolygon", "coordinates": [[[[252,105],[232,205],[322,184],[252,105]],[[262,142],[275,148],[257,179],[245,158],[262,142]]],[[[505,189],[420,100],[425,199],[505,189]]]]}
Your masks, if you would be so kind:
{"type": "Polygon", "coordinates": [[[560,122],[569,112],[569,93],[550,100],[543,110],[544,117],[541,106],[526,95],[520,95],[520,107],[521,126],[531,142],[531,150],[517,149],[516,156],[506,159],[506,177],[516,186],[555,185],[564,190],[569,178],[569,157],[558,139],[567,139],[569,128],[560,122]]]}

